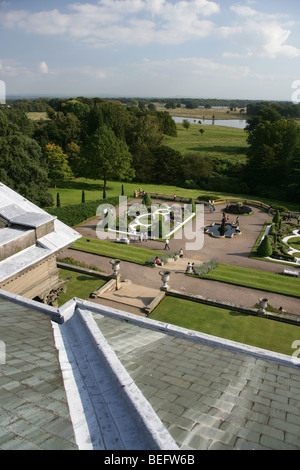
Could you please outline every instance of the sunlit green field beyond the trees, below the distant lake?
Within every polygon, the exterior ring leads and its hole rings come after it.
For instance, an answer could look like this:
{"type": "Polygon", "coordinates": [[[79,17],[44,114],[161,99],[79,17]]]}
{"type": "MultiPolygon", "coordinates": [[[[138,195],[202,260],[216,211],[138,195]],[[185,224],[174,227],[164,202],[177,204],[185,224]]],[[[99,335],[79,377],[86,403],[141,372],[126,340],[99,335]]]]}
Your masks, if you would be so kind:
{"type": "Polygon", "coordinates": [[[183,155],[197,152],[203,157],[234,162],[246,161],[247,134],[234,127],[191,124],[189,129],[177,124],[177,137],[165,137],[165,144],[183,155]],[[201,135],[199,129],[204,129],[201,135]]]}

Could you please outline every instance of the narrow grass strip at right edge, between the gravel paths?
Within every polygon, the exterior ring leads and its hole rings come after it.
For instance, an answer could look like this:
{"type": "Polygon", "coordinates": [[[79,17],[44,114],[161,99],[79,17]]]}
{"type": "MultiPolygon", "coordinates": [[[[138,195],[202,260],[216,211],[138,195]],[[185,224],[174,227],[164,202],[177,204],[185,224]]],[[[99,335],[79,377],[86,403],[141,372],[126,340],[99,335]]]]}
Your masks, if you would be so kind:
{"type": "Polygon", "coordinates": [[[201,277],[238,286],[262,289],[277,294],[300,297],[300,279],[259,271],[257,269],[219,264],[216,269],[209,271],[201,277]]]}

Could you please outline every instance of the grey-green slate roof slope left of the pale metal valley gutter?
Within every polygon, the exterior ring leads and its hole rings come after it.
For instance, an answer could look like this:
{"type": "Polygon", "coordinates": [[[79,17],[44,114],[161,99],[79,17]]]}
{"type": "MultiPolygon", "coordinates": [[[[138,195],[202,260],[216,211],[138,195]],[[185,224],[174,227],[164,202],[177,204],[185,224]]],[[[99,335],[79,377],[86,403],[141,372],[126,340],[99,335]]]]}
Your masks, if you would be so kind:
{"type": "Polygon", "coordinates": [[[0,340],[0,449],[77,449],[50,317],[0,299],[0,340]]]}

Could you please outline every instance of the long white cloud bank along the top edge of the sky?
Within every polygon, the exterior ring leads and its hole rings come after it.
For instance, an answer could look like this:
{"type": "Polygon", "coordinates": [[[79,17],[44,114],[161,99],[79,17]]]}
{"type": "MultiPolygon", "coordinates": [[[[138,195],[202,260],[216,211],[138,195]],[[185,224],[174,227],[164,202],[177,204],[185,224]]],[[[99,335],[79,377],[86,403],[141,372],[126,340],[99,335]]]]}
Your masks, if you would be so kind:
{"type": "Polygon", "coordinates": [[[27,33],[81,38],[102,46],[180,44],[211,34],[214,24],[206,18],[219,11],[211,0],[100,0],[70,4],[69,13],[58,9],[4,11],[0,25],[27,33]]]}

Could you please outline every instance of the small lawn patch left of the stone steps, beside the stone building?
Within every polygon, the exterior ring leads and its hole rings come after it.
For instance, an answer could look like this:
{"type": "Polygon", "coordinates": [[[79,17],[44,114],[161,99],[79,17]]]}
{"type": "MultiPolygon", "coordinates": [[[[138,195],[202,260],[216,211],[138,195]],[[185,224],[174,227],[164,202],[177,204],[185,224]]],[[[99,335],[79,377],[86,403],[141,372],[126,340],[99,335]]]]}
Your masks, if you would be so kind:
{"type": "Polygon", "coordinates": [[[72,277],[67,284],[67,292],[60,294],[58,305],[61,306],[73,297],[79,297],[80,299],[87,299],[92,292],[100,289],[105,284],[105,281],[93,276],[87,276],[85,274],[76,273],[75,271],[69,271],[68,269],[60,269],[60,279],[67,279],[72,277]]]}

